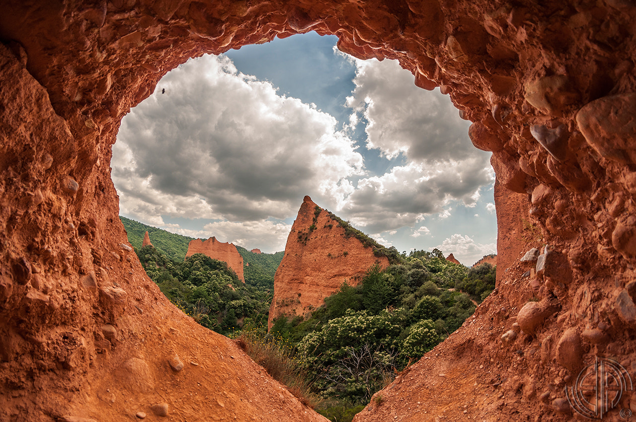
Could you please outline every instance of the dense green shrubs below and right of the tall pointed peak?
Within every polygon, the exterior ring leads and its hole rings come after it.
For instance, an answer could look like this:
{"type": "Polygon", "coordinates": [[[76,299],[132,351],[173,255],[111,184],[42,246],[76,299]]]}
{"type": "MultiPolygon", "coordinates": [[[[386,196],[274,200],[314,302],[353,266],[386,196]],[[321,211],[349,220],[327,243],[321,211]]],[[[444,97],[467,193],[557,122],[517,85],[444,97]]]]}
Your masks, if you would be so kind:
{"type": "Polygon", "coordinates": [[[343,283],[305,320],[278,318],[270,335],[298,349],[330,404],[323,414],[340,420],[458,329],[494,289],[494,275],[489,264],[468,269],[439,250],[411,252],[371,267],[356,287],[343,283]]]}

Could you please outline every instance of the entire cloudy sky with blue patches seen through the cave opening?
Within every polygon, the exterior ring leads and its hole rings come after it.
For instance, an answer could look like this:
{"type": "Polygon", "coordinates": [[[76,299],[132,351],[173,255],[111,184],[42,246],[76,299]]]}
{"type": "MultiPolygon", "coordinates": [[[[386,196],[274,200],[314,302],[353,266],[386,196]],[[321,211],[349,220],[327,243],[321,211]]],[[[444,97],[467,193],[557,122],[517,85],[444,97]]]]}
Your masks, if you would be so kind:
{"type": "Polygon", "coordinates": [[[113,146],[120,214],[276,252],[309,195],[400,251],[496,252],[494,172],[469,122],[397,62],[336,41],[276,39],[167,74],[113,146]]]}

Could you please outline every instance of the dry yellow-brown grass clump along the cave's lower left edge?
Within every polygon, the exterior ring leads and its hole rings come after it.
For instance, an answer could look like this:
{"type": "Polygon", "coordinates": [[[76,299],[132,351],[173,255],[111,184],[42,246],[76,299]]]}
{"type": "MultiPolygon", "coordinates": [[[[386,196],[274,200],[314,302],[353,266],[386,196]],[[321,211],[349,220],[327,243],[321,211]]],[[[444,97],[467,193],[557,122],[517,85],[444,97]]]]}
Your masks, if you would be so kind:
{"type": "Polygon", "coordinates": [[[307,380],[307,369],[289,341],[282,337],[269,336],[257,330],[241,332],[235,342],[257,364],[261,365],[273,379],[287,386],[300,402],[314,409],[322,399],[312,393],[307,380]]]}

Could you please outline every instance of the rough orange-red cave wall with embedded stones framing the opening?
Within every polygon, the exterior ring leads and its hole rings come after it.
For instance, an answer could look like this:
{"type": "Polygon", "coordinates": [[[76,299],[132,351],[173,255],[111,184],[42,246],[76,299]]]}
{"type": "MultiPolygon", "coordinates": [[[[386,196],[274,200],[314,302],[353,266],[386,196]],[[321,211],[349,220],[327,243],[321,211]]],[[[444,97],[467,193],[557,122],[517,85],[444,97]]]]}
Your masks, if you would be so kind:
{"type": "MultiPolygon", "coordinates": [[[[598,354],[634,371],[633,22],[626,0],[5,2],[0,420],[123,420],[162,403],[179,420],[324,420],[162,296],[109,175],[121,118],[170,69],[308,31],[439,86],[497,176],[497,289],[356,422],[571,420],[581,365],[598,354]]],[[[633,406],[623,397],[608,418],[633,406]]]]}

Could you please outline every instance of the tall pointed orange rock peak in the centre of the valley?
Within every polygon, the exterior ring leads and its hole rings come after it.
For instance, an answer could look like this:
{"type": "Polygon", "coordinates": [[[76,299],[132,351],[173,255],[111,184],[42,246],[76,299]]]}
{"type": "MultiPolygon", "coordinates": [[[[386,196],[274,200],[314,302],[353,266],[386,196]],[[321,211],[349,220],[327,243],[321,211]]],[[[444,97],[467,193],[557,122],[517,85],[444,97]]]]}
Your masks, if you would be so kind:
{"type": "Polygon", "coordinates": [[[303,316],[318,308],[343,282],[359,285],[375,263],[386,268],[389,259],[376,257],[372,247],[347,237],[329,212],[305,196],[274,276],[269,327],[280,315],[303,316]]]}

